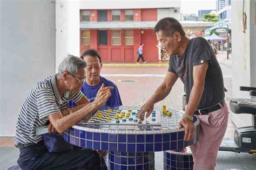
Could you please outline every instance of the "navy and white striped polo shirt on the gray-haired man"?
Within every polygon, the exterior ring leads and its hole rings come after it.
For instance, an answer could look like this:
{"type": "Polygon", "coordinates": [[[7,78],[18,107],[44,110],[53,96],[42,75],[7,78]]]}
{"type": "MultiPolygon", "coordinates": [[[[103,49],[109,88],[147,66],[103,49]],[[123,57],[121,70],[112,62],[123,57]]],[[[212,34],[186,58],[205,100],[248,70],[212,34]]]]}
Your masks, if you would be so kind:
{"type": "Polygon", "coordinates": [[[36,128],[45,126],[48,115],[68,108],[67,100],[78,102],[82,96],[83,93],[80,90],[77,93],[68,91],[60,96],[56,75],[36,83],[19,111],[14,146],[41,141],[42,136],[36,135],[36,128]]]}

